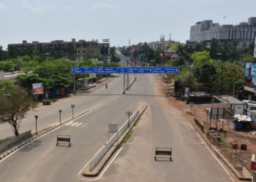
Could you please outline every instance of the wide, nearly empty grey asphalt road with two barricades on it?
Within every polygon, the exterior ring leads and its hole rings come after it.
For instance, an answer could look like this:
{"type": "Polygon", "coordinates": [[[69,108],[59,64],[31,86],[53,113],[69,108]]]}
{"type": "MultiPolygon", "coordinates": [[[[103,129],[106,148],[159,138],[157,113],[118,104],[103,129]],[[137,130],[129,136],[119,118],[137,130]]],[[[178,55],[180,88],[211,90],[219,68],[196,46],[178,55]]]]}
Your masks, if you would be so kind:
{"type": "Polygon", "coordinates": [[[140,75],[127,95],[119,95],[120,76],[108,84],[112,89],[76,95],[83,100],[78,108],[90,112],[2,160],[1,181],[83,181],[78,173],[108,140],[108,123],[121,125],[126,111],[144,104],[134,138],[98,181],[231,181],[179,111],[165,107],[165,96],[156,92],[159,79],[140,75]],[[72,146],[56,146],[58,134],[71,135],[72,146]],[[154,162],[156,146],[173,147],[173,162],[154,162]]]}

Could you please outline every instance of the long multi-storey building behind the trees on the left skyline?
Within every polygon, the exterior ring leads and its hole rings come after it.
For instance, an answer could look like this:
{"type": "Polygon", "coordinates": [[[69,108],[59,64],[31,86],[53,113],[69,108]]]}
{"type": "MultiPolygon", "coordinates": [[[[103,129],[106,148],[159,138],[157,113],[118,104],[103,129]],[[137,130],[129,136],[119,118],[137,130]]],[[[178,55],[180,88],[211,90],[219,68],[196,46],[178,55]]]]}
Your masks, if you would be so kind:
{"type": "Polygon", "coordinates": [[[32,41],[31,43],[24,40],[22,44],[8,44],[10,54],[22,55],[34,53],[45,55],[59,55],[67,58],[95,58],[109,57],[110,43],[98,43],[98,41],[63,41],[56,40],[50,42],[32,41]]]}

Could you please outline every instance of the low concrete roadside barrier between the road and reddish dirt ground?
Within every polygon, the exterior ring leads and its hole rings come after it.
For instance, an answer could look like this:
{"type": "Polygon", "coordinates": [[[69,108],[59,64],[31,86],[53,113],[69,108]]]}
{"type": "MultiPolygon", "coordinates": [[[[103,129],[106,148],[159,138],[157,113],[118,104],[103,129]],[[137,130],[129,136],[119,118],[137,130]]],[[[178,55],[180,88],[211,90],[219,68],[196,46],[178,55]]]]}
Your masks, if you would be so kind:
{"type": "Polygon", "coordinates": [[[225,166],[228,167],[234,175],[236,175],[236,178],[238,178],[238,180],[252,181],[252,178],[245,178],[240,173],[238,173],[238,171],[235,169],[235,167],[233,167],[233,165],[231,165],[230,162],[227,161],[226,157],[221,153],[221,151],[219,151],[219,149],[216,146],[214,146],[214,144],[211,143],[211,141],[208,140],[206,135],[203,135],[203,132],[200,130],[200,128],[197,127],[196,124],[194,124],[194,122],[192,122],[191,124],[193,127],[195,127],[195,130],[197,130],[197,132],[199,132],[199,134],[203,138],[203,140],[206,141],[206,144],[208,145],[209,149],[211,149],[211,151],[214,151],[214,154],[216,154],[217,157],[222,160],[222,162],[225,164],[225,166]],[[215,149],[213,148],[213,146],[215,149]]]}

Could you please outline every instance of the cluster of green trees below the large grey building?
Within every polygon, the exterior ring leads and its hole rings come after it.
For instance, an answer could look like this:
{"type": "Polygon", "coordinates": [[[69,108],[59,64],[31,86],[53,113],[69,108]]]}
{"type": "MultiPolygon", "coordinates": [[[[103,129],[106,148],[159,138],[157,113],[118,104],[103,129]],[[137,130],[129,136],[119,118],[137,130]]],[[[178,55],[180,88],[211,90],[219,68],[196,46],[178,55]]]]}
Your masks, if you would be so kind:
{"type": "Polygon", "coordinates": [[[188,66],[181,66],[181,59],[170,60],[168,66],[180,66],[176,76],[181,91],[184,87],[190,90],[206,92],[232,92],[236,82],[236,90],[243,90],[244,68],[236,61],[223,61],[211,59],[210,52],[204,50],[194,52],[190,58],[193,60],[191,71],[188,66]]]}

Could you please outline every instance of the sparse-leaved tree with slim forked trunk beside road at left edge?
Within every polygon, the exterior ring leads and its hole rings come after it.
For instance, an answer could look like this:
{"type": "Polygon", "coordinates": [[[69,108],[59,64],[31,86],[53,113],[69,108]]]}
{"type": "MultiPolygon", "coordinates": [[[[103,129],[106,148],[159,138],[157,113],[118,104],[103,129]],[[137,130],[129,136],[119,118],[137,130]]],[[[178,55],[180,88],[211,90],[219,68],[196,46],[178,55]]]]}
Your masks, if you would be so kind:
{"type": "Polygon", "coordinates": [[[0,85],[0,119],[8,122],[16,136],[19,135],[19,122],[28,111],[35,107],[28,93],[10,81],[0,85]]]}

